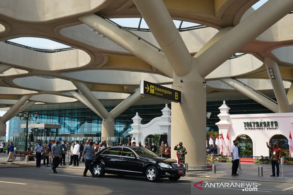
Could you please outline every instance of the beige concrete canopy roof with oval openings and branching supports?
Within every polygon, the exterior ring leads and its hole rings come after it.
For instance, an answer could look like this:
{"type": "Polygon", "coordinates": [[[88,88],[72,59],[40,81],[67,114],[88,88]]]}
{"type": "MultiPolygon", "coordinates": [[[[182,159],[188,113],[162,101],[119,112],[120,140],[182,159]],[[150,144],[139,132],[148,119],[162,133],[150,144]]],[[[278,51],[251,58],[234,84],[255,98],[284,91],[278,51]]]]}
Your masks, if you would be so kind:
{"type": "Polygon", "coordinates": [[[184,102],[195,96],[199,107],[206,100],[248,97],[274,112],[292,112],[293,2],[269,0],[254,10],[257,2],[0,0],[0,108],[11,107],[0,121],[35,103],[81,101],[111,125],[141,98],[140,80],[182,91],[183,115],[184,102]],[[123,27],[111,18],[143,18],[147,28],[123,27]],[[7,41],[19,37],[69,48],[7,41]],[[108,112],[100,101],[109,99],[125,100],[108,112]]]}

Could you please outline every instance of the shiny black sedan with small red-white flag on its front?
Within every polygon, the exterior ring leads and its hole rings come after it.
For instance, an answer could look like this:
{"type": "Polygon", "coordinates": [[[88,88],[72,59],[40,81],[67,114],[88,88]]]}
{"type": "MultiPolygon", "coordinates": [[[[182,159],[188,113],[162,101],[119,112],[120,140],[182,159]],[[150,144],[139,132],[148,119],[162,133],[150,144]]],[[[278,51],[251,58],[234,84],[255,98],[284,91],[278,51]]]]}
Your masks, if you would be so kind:
{"type": "Polygon", "coordinates": [[[116,175],[145,176],[149,182],[158,182],[160,178],[179,180],[185,176],[185,166],[177,165],[170,158],[163,158],[149,149],[138,146],[113,146],[96,154],[93,172],[96,177],[105,173],[116,175]]]}

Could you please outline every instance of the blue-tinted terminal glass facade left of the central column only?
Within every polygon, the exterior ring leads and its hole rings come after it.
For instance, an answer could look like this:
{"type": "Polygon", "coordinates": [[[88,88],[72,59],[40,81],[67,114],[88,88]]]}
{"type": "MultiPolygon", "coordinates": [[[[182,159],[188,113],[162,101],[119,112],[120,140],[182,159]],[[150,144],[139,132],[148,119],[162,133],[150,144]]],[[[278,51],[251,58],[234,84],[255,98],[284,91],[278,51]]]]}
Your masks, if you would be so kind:
{"type": "MultiPolygon", "coordinates": [[[[127,132],[132,130],[130,126],[133,121],[132,118],[138,112],[142,118],[142,124],[146,124],[155,117],[162,115],[161,110],[165,107],[165,104],[155,105],[137,105],[130,106],[127,110],[121,113],[115,121],[115,137],[127,137],[127,132]]],[[[171,108],[171,104],[168,104],[171,108]]],[[[106,107],[107,111],[111,111],[114,107],[106,107]]],[[[34,113],[31,111],[30,113],[34,113]]],[[[38,110],[39,117],[36,121],[29,121],[29,124],[34,123],[46,123],[61,125],[61,129],[58,130],[58,134],[95,134],[96,137],[101,136],[101,122],[96,113],[89,108],[74,108],[74,109],[57,109],[57,110],[38,110]]],[[[21,124],[25,124],[25,121],[15,116],[9,121],[8,136],[18,136],[19,133],[24,134],[24,128],[21,128],[21,124]]],[[[54,136],[55,129],[29,129],[29,134],[32,132],[34,136],[54,136]]]]}

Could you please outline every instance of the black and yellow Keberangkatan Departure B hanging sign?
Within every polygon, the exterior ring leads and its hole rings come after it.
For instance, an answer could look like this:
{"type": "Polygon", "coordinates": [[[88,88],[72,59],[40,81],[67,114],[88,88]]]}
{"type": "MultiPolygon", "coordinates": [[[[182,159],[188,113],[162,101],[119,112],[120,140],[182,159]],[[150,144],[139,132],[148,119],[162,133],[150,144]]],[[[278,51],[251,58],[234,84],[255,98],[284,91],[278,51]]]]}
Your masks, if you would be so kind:
{"type": "Polygon", "coordinates": [[[140,81],[139,90],[140,94],[146,96],[182,103],[182,93],[175,89],[170,89],[147,81],[140,81]]]}

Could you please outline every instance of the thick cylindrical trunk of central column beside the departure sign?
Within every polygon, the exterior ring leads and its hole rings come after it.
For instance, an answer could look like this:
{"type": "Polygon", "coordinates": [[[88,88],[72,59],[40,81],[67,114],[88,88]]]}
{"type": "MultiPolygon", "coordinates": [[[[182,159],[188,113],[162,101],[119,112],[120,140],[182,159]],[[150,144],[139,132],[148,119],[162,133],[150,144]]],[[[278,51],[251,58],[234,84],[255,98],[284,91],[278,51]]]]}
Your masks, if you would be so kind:
{"type": "Polygon", "coordinates": [[[206,90],[202,82],[174,83],[181,85],[183,103],[171,105],[171,158],[176,159],[174,146],[183,142],[185,163],[206,165],[206,90]]]}

